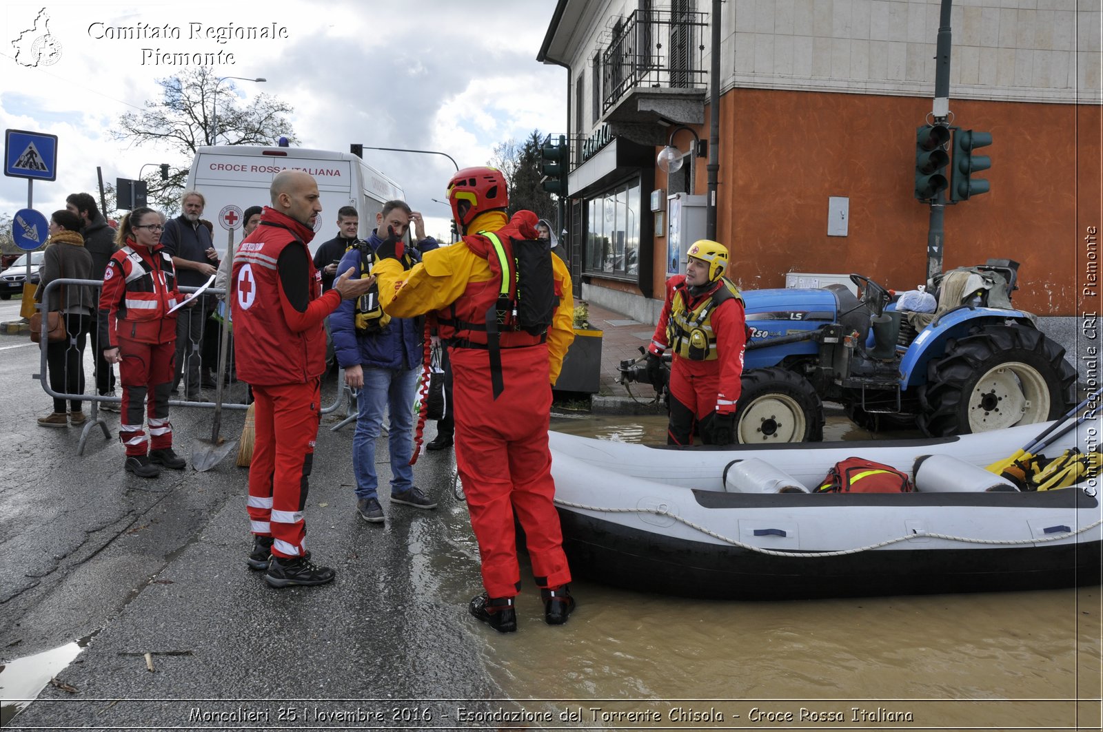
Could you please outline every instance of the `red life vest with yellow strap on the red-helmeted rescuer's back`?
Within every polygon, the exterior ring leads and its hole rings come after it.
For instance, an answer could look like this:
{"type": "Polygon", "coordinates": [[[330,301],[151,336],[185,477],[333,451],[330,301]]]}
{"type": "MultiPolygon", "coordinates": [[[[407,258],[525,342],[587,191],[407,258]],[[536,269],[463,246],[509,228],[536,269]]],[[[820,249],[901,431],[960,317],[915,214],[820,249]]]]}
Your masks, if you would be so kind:
{"type": "MultiPolygon", "coordinates": [[[[490,353],[491,385],[494,397],[497,398],[504,388],[500,349],[535,346],[547,340],[552,314],[563,297],[563,286],[554,278],[552,254],[546,246],[542,247],[542,256],[547,260],[547,277],[550,281],[545,283],[534,279],[526,283],[518,279],[513,243],[504,244],[493,232],[479,232],[479,235],[493,245],[488,263],[496,277],[482,282],[468,282],[463,294],[447,311],[437,312],[437,324],[440,337],[450,347],[484,348],[490,353]],[[528,317],[521,317],[518,288],[522,295],[526,288],[548,293],[533,295],[533,300],[554,298],[546,324],[542,326],[528,317]]],[[[535,302],[533,304],[535,311],[544,310],[543,305],[535,302]]]]}

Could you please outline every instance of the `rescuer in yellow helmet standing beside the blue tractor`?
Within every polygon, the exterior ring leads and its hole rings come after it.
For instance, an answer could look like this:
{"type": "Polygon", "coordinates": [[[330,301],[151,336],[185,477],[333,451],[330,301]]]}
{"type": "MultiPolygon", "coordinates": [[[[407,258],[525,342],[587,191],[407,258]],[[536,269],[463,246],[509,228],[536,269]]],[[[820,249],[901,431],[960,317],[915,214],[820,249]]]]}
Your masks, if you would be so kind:
{"type": "Polygon", "coordinates": [[[667,444],[693,444],[695,434],[705,444],[731,444],[747,344],[743,300],[725,277],[727,247],[699,239],[686,254],[686,273],[666,281],[647,374],[661,384],[660,359],[671,348],[667,444]]]}

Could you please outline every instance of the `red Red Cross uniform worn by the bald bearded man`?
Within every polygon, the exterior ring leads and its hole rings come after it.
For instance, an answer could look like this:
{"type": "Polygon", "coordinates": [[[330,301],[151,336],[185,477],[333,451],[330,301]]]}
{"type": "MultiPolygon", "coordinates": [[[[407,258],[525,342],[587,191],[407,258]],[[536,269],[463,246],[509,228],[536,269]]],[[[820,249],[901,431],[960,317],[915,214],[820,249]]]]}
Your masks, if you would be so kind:
{"type": "Polygon", "coordinates": [[[265,206],[260,225],[234,252],[231,279],[237,374],[255,399],[250,528],[272,537],[271,552],[281,559],[307,551],[303,508],[325,373],[322,321],[341,304],[336,290],[322,294],[307,247],[313,236],[265,206]]]}

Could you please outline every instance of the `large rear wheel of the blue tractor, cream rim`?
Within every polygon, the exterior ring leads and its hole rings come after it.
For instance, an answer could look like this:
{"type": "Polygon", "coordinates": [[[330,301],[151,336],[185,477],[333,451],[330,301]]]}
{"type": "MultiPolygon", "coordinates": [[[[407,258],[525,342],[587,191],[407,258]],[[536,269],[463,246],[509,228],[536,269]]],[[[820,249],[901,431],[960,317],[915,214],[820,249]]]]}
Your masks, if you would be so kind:
{"type": "Polygon", "coordinates": [[[1075,383],[1064,348],[1040,331],[987,325],[928,365],[919,427],[950,437],[1057,419],[1075,403],[1075,383]]]}

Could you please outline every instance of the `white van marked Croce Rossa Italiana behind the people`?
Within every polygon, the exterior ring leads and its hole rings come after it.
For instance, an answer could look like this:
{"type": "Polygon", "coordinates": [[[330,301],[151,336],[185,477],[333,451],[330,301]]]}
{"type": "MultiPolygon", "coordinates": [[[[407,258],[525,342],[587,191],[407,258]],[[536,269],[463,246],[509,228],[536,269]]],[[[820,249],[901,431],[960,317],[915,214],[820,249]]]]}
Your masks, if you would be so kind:
{"type": "MultiPolygon", "coordinates": [[[[358,234],[367,238],[383,204],[405,198],[400,185],[351,152],[236,144],[199,148],[188,174],[188,190],[199,191],[206,198],[203,218],[214,224],[214,244],[219,256],[225,254],[229,239],[226,219],[240,215],[231,206],[244,212],[249,206],[269,205],[268,189],[276,174],[285,169],[307,171],[318,181],[322,213],[314,224],[317,234],[310,244],[311,251],[338,235],[341,206],[356,209],[358,234]]],[[[234,241],[240,241],[240,223],[235,225],[234,241]]]]}

